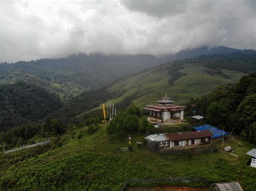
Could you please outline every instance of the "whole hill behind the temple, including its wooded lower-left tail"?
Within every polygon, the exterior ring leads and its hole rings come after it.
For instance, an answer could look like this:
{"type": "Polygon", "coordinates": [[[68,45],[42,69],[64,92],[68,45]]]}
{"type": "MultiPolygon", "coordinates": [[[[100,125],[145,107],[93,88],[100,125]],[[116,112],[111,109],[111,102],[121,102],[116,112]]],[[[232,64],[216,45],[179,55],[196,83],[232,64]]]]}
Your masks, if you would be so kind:
{"type": "Polygon", "coordinates": [[[143,109],[147,104],[156,103],[165,93],[178,104],[185,104],[192,97],[211,93],[217,86],[235,84],[240,77],[255,71],[256,51],[250,50],[172,61],[126,77],[108,88],[80,94],[58,115],[75,117],[98,107],[108,98],[116,104],[117,110],[131,104],[143,109]]]}

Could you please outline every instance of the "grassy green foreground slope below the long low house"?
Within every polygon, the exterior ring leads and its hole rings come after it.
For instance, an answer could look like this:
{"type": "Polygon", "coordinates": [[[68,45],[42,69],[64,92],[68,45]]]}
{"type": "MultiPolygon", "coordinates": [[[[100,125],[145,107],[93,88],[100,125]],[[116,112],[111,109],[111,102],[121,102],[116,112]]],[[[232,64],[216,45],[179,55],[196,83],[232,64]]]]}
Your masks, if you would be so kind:
{"type": "MultiPolygon", "coordinates": [[[[193,155],[188,159],[139,149],[136,142],[142,141],[145,135],[134,135],[134,151],[120,152],[120,147],[127,146],[127,140],[111,138],[105,129],[106,125],[101,125],[90,136],[86,134],[86,128],[73,130],[63,136],[63,146],[52,148],[36,157],[29,155],[32,149],[9,155],[1,153],[3,168],[0,169],[0,183],[1,180],[12,180],[17,181],[16,186],[30,189],[38,189],[39,185],[47,185],[49,188],[89,186],[120,189],[128,179],[190,176],[207,178],[212,182],[239,181],[247,189],[256,188],[255,182],[253,183],[256,169],[246,166],[250,159],[246,152],[255,145],[229,139],[224,146],[232,146],[234,154],[239,155],[239,158],[220,149],[217,153],[193,155]],[[76,137],[80,131],[83,138],[78,140],[76,137]],[[72,134],[74,138],[71,138],[72,134]],[[62,180],[66,171],[69,171],[70,178],[62,180]],[[56,182],[61,181],[62,186],[56,186],[56,182]]],[[[222,147],[221,142],[218,146],[222,147]]]]}

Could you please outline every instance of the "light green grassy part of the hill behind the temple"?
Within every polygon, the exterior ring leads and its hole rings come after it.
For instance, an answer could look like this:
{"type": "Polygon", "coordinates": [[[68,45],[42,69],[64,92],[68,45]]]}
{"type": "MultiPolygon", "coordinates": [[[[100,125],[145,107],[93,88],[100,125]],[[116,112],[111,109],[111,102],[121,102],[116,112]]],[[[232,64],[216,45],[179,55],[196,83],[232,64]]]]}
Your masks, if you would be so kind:
{"type": "Polygon", "coordinates": [[[125,90],[126,93],[113,100],[119,103],[125,97],[138,93],[138,98],[132,101],[134,105],[143,108],[146,104],[154,104],[157,100],[167,93],[178,104],[186,103],[191,97],[200,97],[210,93],[216,86],[237,82],[245,73],[236,70],[220,69],[224,75],[210,75],[206,72],[209,70],[203,64],[185,64],[179,72],[185,74],[171,85],[169,74],[171,63],[154,67],[146,70],[144,73],[127,77],[116,82],[109,91],[125,90]]]}

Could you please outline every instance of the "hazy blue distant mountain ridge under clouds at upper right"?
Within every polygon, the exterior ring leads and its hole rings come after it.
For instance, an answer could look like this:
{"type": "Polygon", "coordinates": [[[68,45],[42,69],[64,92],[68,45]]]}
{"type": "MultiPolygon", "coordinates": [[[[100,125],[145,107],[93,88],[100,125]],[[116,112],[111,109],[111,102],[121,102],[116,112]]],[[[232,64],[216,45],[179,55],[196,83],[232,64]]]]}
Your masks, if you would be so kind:
{"type": "Polygon", "coordinates": [[[210,54],[225,54],[228,52],[239,51],[239,49],[234,49],[226,46],[218,46],[218,47],[199,47],[194,49],[184,49],[182,51],[177,52],[176,54],[166,54],[160,56],[160,59],[163,62],[173,61],[173,60],[182,60],[186,58],[194,58],[200,55],[210,55],[210,54]]]}

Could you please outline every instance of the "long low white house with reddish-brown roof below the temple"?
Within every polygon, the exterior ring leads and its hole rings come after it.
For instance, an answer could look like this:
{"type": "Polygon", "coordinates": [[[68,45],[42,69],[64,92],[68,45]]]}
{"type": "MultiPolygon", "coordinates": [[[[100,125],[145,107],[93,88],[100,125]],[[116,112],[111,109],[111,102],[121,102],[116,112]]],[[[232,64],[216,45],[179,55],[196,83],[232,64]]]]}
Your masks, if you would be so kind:
{"type": "Polygon", "coordinates": [[[162,133],[145,138],[147,146],[151,148],[186,148],[208,145],[212,133],[209,131],[187,131],[179,133],[162,133]]]}

